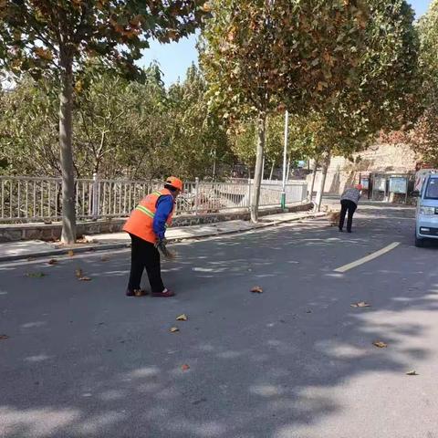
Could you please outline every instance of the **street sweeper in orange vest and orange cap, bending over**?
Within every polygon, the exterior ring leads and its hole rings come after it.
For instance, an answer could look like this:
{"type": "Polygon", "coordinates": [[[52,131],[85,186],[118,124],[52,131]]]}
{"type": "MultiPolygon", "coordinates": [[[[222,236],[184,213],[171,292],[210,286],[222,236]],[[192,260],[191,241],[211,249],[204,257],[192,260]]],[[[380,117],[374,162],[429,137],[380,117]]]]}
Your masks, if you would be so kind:
{"type": "Polygon", "coordinates": [[[177,196],[183,191],[183,182],[171,176],[164,188],[148,194],[130,214],[123,226],[123,231],[130,235],[130,280],[126,295],[141,297],[146,291],[141,290],[141,276],[146,269],[151,284],[152,297],[173,297],[172,290],[162,283],[162,266],[160,252],[169,256],[164,237],[166,227],[172,224],[177,196]],[[160,251],[159,251],[160,250],[160,251]]]}

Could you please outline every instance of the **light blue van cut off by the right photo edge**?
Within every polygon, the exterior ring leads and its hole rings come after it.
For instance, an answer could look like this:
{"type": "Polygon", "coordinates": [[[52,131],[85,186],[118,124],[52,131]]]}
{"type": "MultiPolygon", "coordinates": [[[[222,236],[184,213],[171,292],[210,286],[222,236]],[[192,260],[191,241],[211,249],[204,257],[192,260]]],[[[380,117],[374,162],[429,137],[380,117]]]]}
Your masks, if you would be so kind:
{"type": "Polygon", "coordinates": [[[423,246],[428,239],[438,240],[438,173],[425,175],[415,215],[415,246],[423,246]]]}

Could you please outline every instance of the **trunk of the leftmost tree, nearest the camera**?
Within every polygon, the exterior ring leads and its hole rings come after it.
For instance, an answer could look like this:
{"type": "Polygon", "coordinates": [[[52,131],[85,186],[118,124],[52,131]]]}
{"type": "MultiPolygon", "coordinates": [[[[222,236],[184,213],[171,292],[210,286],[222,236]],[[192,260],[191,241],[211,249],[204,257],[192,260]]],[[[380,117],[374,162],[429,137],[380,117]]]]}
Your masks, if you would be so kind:
{"type": "Polygon", "coordinates": [[[73,166],[72,109],[73,109],[73,61],[68,56],[67,47],[60,47],[59,92],[59,150],[62,174],[62,235],[63,244],[76,242],[75,177],[73,166]]]}

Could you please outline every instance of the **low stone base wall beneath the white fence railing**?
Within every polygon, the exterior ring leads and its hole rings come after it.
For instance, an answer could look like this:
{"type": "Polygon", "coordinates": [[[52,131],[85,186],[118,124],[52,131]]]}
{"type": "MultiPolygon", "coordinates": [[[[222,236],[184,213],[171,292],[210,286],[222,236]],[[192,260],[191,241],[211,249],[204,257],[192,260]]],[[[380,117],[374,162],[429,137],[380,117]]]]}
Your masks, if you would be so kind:
{"type": "MultiPolygon", "coordinates": [[[[304,212],[312,208],[311,203],[297,203],[287,207],[289,212],[304,212]]],[[[264,208],[260,215],[284,213],[280,207],[264,208]]],[[[249,212],[217,213],[200,215],[181,215],[173,219],[172,226],[189,226],[197,224],[214,224],[217,222],[250,219],[249,212]]],[[[121,231],[126,218],[111,219],[95,222],[80,222],[77,225],[77,235],[99,235],[103,233],[118,233],[121,231]]],[[[55,224],[6,224],[0,225],[0,242],[14,242],[18,240],[57,241],[61,236],[62,225],[55,224]]]]}

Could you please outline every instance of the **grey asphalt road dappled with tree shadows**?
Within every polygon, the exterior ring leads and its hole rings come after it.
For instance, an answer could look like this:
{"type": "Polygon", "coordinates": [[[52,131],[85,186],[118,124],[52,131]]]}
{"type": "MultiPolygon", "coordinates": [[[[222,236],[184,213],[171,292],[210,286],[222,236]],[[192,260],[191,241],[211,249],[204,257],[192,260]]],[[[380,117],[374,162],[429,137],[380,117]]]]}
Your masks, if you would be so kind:
{"type": "Polygon", "coordinates": [[[438,246],[412,217],[174,245],[169,299],[124,296],[127,251],[1,265],[0,436],[437,438],[438,246]]]}

